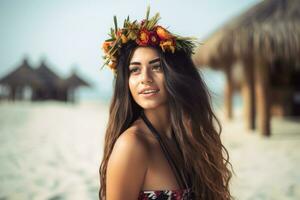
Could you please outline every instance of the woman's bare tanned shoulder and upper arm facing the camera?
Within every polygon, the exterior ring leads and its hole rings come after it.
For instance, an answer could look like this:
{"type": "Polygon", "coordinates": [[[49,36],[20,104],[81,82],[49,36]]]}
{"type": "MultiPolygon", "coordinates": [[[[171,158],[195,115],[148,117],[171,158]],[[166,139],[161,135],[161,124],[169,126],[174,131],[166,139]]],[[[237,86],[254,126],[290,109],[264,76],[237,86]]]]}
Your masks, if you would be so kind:
{"type": "Polygon", "coordinates": [[[108,199],[137,199],[149,162],[147,139],[137,126],[117,139],[107,165],[108,199]]]}

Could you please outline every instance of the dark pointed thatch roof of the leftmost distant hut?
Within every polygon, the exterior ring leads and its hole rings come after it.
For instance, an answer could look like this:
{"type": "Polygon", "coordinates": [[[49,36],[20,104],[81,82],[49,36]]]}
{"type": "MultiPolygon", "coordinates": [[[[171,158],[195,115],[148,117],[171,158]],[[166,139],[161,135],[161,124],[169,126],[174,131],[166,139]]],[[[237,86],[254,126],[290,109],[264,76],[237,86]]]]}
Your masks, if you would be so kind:
{"type": "Polygon", "coordinates": [[[35,70],[30,67],[26,58],[19,67],[2,77],[0,79],[0,84],[11,85],[14,87],[25,85],[30,85],[32,87],[44,86],[43,80],[36,74],[35,70]]]}

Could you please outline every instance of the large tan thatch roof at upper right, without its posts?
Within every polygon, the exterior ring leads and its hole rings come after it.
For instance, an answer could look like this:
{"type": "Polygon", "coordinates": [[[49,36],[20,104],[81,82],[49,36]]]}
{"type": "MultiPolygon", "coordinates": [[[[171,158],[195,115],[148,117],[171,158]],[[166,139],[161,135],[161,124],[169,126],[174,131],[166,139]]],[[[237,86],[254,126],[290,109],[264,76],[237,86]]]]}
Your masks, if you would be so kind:
{"type": "Polygon", "coordinates": [[[214,32],[193,59],[197,66],[223,68],[254,57],[300,63],[299,55],[300,1],[265,0],[214,32]]]}

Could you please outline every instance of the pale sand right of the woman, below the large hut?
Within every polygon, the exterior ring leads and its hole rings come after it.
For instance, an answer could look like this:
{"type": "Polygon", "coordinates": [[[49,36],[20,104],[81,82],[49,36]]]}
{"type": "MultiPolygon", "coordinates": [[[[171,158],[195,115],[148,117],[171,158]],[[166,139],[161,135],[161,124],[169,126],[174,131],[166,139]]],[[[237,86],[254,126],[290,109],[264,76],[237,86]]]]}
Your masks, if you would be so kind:
{"type": "Polygon", "coordinates": [[[233,121],[224,121],[236,199],[300,199],[300,119],[273,117],[270,138],[245,130],[240,111],[233,121]]]}

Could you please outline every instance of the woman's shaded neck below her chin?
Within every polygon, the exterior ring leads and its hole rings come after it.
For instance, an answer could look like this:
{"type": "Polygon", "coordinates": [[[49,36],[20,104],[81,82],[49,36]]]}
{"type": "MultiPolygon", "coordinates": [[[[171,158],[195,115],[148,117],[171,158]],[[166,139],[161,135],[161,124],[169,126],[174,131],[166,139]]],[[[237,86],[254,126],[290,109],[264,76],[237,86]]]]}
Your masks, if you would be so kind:
{"type": "Polygon", "coordinates": [[[145,109],[144,113],[160,134],[164,134],[168,139],[172,138],[172,128],[168,106],[163,105],[156,109],[145,109]]]}

